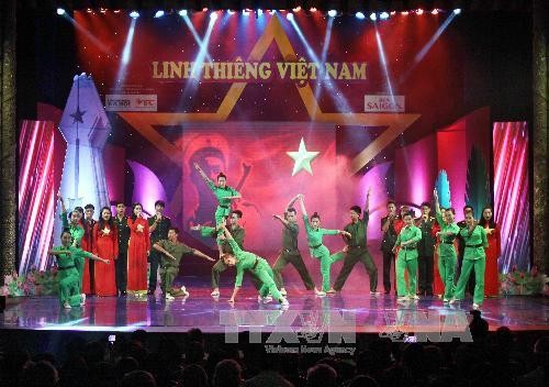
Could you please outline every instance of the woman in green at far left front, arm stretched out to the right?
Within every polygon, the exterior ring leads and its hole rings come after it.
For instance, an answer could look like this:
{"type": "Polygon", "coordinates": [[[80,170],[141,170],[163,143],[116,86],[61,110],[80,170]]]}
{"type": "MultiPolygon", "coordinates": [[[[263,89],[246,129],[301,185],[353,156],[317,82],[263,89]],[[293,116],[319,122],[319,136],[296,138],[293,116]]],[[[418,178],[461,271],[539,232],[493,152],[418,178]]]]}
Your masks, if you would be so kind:
{"type": "Polygon", "coordinates": [[[109,264],[109,259],[102,259],[97,255],[85,252],[71,245],[72,236],[65,230],[60,235],[61,245],[52,248],[48,254],[55,255],[59,277],[59,302],[65,309],[83,306],[86,295],[81,292],[80,274],[76,268],[79,259],[93,259],[109,264]]]}

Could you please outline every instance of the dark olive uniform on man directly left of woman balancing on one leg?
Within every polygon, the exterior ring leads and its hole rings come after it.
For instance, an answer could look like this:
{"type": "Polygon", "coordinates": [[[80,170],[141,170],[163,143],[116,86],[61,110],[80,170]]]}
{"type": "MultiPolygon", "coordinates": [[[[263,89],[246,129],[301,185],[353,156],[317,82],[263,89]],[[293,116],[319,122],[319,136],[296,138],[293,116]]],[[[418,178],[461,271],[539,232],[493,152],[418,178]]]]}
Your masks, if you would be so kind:
{"type": "Polygon", "coordinates": [[[313,290],[314,281],[311,278],[305,263],[303,262],[303,257],[301,256],[301,253],[298,248],[298,234],[300,232],[300,228],[298,223],[282,223],[282,251],[274,262],[274,267],[272,267],[277,287],[284,287],[284,281],[280,272],[282,272],[285,265],[292,264],[300,274],[301,280],[305,285],[305,288],[307,290],[313,290]]]}

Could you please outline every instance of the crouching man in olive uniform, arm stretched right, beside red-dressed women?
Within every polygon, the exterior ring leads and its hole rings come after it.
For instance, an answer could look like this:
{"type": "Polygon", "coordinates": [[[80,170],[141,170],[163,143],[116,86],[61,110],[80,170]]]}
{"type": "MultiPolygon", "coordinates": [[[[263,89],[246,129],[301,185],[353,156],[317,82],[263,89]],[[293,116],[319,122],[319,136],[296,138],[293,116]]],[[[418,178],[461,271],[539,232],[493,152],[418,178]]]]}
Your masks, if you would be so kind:
{"type": "Polygon", "coordinates": [[[181,262],[181,257],[183,254],[193,254],[201,258],[204,258],[210,262],[215,262],[215,259],[209,257],[202,252],[199,252],[197,248],[191,248],[188,245],[178,241],[179,229],[169,228],[168,239],[157,241],[153,244],[153,248],[163,253],[163,264],[160,270],[161,284],[160,288],[163,289],[163,294],[167,300],[172,300],[173,295],[182,294],[188,297],[189,291],[184,286],[181,287],[181,290],[173,291],[173,280],[176,279],[179,273],[179,263],[181,262]]]}

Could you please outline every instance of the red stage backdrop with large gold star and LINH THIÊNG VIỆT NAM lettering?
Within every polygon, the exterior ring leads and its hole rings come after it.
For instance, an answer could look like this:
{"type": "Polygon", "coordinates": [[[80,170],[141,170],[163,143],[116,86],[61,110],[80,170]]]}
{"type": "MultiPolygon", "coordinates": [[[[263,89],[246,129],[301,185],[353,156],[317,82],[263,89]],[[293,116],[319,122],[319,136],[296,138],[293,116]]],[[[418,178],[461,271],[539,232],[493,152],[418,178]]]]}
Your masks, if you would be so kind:
{"type": "MultiPolygon", "coordinates": [[[[87,135],[77,158],[65,161],[61,192],[72,204],[141,201],[152,214],[163,199],[182,239],[206,248],[214,241],[189,229],[212,224],[215,208],[192,168],[199,163],[242,192],[234,208],[244,212],[245,246],[272,263],[280,248],[272,214],[299,192],[324,226],[341,229],[371,187],[376,255],[386,200],[430,201],[440,169],[459,212],[481,200],[466,199],[468,169],[481,163],[475,184],[491,202],[490,107],[468,110],[464,101],[458,15],[211,14],[75,12],[76,55],[88,76],[67,90],[61,120],[87,135]],[[104,111],[93,92],[82,97],[88,82],[104,111]],[[90,181],[99,188],[86,188],[90,181]]],[[[300,243],[305,252],[304,232],[300,243]]]]}

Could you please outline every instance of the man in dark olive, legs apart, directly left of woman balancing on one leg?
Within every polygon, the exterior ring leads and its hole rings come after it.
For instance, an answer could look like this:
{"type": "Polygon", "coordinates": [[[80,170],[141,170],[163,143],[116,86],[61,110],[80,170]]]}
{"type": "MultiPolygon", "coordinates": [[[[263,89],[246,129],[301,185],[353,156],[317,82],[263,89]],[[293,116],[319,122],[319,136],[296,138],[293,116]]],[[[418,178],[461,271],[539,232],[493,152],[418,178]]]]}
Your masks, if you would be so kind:
{"type": "Polygon", "coordinates": [[[300,228],[298,225],[298,217],[296,217],[296,211],[293,208],[293,203],[300,198],[300,195],[296,195],[288,206],[285,207],[284,211],[284,218],[280,215],[272,215],[274,219],[278,219],[280,223],[282,223],[282,250],[280,252],[280,255],[277,258],[277,262],[274,262],[274,266],[272,268],[272,273],[274,275],[274,283],[277,284],[277,287],[280,289],[280,294],[282,296],[287,295],[285,288],[284,288],[284,281],[281,276],[282,269],[285,267],[288,264],[292,264],[293,267],[298,270],[300,274],[301,280],[305,285],[305,289],[307,290],[313,290],[315,295],[317,296],[325,296],[326,294],[323,291],[320,291],[315,286],[314,281],[311,278],[311,275],[309,274],[309,270],[305,266],[305,263],[303,262],[303,257],[301,256],[300,250],[298,248],[298,234],[300,232],[300,228]]]}

